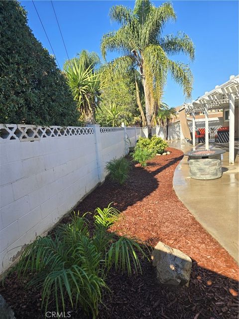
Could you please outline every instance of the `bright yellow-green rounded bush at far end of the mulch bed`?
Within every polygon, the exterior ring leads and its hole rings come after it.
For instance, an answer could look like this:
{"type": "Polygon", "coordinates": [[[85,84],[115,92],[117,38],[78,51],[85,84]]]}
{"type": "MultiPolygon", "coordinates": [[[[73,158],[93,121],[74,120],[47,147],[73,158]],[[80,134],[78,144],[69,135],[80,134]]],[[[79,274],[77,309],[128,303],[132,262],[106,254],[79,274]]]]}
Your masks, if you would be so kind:
{"type": "Polygon", "coordinates": [[[147,149],[149,152],[156,155],[162,154],[167,147],[167,142],[154,135],[150,139],[140,137],[138,139],[135,149],[147,149]]]}

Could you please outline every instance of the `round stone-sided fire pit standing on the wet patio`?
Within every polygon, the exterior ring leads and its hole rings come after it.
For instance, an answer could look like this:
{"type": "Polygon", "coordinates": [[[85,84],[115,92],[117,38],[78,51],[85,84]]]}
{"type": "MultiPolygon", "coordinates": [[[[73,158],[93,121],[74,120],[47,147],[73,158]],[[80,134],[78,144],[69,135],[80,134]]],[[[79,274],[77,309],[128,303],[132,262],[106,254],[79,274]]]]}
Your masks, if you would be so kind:
{"type": "Polygon", "coordinates": [[[221,154],[225,150],[195,150],[188,156],[190,176],[195,179],[215,179],[222,177],[221,154]]]}

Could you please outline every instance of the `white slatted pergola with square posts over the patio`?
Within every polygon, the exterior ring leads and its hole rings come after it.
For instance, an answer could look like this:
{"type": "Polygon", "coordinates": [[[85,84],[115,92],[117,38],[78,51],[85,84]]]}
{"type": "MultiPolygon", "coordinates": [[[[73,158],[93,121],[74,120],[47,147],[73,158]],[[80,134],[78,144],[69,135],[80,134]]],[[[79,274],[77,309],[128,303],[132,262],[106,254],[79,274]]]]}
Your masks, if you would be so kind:
{"type": "Polygon", "coordinates": [[[235,148],[235,101],[239,100],[239,75],[230,76],[230,80],[222,85],[217,85],[214,90],[205,92],[203,96],[191,103],[185,103],[186,112],[193,117],[193,148],[195,149],[195,112],[205,113],[205,148],[209,150],[209,125],[208,113],[213,109],[229,107],[229,162],[234,163],[235,148]]]}

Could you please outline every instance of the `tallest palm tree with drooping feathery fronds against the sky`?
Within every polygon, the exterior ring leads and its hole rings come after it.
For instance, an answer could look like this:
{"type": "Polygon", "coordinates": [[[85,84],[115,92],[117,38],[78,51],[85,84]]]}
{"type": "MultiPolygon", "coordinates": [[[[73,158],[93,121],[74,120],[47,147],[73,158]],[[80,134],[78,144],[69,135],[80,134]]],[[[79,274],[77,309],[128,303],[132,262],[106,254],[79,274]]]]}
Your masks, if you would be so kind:
{"type": "Polygon", "coordinates": [[[189,66],[169,59],[168,55],[186,53],[193,60],[194,44],[183,32],[178,32],[176,36],[162,36],[165,23],[169,19],[176,19],[169,2],[155,7],[150,0],[136,0],[133,10],[115,5],[110,10],[110,17],[121,27],[103,36],[102,55],[106,58],[107,51],[118,51],[123,54],[116,59],[119,69],[131,66],[140,73],[150,136],[152,120],[157,114],[168,71],[183,87],[184,94],[187,97],[191,95],[193,76],[189,66]]]}

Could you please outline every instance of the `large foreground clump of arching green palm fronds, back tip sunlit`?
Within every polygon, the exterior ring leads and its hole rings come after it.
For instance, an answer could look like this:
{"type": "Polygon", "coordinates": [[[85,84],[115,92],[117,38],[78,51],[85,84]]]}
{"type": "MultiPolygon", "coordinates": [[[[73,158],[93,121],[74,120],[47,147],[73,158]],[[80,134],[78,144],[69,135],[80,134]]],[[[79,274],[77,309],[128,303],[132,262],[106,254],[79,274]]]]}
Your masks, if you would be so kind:
{"type": "Polygon", "coordinates": [[[98,316],[98,305],[102,303],[103,290],[108,290],[105,279],[114,267],[131,274],[132,267],[140,270],[140,261],[146,257],[140,245],[133,239],[118,237],[107,231],[112,218],[117,218],[119,211],[111,205],[101,210],[96,209],[95,230],[90,236],[88,221],[74,214],[72,222],[60,225],[54,238],[50,235],[38,237],[28,245],[16,266],[18,276],[32,279],[28,286],[42,289],[42,305],[45,309],[49,301],[66,308],[69,301],[73,309],[80,304],[86,314],[98,316]]]}

